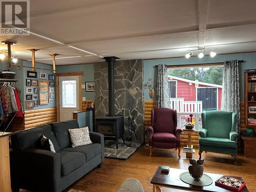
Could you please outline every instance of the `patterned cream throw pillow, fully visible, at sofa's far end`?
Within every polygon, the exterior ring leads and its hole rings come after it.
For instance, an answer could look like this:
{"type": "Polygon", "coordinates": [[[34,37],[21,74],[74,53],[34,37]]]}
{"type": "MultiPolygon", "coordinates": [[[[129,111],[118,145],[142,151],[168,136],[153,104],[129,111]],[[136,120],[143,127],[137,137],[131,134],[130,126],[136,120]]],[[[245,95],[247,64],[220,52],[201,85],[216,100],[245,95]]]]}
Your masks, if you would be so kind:
{"type": "Polygon", "coordinates": [[[93,143],[90,139],[89,128],[69,129],[72,147],[87,145],[93,143]]]}

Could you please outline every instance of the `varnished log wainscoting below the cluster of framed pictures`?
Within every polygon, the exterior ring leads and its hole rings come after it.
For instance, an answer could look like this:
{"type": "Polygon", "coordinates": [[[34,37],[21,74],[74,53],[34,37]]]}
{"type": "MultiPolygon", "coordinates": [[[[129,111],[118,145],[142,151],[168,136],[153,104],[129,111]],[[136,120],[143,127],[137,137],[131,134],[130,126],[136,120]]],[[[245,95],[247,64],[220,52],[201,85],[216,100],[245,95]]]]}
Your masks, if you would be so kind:
{"type": "Polygon", "coordinates": [[[25,111],[25,129],[57,121],[56,107],[25,111]]]}

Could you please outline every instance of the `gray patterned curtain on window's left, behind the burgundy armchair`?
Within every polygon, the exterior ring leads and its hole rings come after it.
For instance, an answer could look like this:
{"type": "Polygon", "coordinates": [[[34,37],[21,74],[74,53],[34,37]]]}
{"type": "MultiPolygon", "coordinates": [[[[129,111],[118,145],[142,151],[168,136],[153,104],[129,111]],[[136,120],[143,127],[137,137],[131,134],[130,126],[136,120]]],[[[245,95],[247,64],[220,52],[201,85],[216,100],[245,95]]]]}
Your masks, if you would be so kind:
{"type": "Polygon", "coordinates": [[[158,65],[157,74],[157,108],[169,108],[169,88],[167,80],[167,68],[165,65],[158,65]]]}

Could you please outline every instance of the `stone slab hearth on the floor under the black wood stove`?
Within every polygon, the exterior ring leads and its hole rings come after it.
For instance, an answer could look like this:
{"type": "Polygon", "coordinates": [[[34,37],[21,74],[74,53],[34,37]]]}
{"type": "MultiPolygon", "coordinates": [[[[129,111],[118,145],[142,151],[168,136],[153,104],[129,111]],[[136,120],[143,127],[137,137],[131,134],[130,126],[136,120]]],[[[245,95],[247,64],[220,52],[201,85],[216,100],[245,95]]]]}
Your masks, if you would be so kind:
{"type": "MultiPolygon", "coordinates": [[[[129,144],[130,141],[126,141],[126,144],[129,144]]],[[[129,147],[126,144],[123,144],[122,140],[119,141],[118,150],[116,149],[116,144],[114,141],[107,140],[105,141],[104,146],[104,156],[106,158],[121,159],[127,160],[131,157],[141,146],[142,143],[133,142],[134,147],[129,147]]]]}

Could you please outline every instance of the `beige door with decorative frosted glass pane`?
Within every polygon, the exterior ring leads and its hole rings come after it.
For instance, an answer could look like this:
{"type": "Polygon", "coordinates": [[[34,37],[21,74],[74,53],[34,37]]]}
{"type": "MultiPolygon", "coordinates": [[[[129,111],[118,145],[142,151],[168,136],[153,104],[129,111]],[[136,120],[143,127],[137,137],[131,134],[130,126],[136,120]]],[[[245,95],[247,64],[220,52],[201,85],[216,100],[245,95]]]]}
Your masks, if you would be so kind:
{"type": "Polygon", "coordinates": [[[79,110],[79,77],[59,76],[59,121],[73,119],[79,110]]]}

